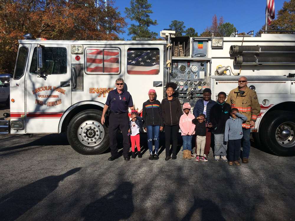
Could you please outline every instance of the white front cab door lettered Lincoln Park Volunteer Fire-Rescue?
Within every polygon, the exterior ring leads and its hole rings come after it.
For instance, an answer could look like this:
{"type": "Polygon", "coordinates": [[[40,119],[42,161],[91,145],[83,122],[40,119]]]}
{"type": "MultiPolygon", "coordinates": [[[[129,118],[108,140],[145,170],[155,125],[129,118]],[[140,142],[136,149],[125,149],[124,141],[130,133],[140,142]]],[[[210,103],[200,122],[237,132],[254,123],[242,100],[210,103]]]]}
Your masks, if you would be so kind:
{"type": "Polygon", "coordinates": [[[70,45],[42,45],[42,75],[37,74],[37,44],[32,45],[27,68],[27,133],[57,133],[61,116],[71,106],[70,45]]]}

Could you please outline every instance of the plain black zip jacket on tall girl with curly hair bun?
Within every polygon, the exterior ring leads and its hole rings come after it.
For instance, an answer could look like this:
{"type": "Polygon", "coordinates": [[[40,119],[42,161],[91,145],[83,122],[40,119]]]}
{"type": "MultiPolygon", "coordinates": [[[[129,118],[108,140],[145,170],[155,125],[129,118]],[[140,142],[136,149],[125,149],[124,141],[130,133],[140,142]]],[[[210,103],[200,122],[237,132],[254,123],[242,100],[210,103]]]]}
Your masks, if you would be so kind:
{"type": "Polygon", "coordinates": [[[168,100],[168,98],[165,97],[162,100],[161,105],[164,124],[168,126],[178,125],[182,115],[181,104],[179,100],[175,97],[173,97],[172,100],[168,100]]]}

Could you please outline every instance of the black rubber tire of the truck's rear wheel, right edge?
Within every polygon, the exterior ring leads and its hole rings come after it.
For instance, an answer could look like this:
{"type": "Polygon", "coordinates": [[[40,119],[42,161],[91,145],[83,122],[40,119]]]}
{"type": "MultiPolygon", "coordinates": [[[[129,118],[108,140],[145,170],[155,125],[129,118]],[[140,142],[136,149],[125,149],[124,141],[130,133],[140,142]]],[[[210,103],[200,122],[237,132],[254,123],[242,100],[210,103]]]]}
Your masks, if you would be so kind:
{"type": "Polygon", "coordinates": [[[295,116],[294,112],[274,110],[268,113],[266,119],[261,122],[259,129],[259,138],[264,146],[273,154],[278,156],[294,156],[295,155],[295,116]],[[290,126],[291,135],[286,138],[284,144],[280,144],[276,138],[277,128],[281,125],[290,126]]]}

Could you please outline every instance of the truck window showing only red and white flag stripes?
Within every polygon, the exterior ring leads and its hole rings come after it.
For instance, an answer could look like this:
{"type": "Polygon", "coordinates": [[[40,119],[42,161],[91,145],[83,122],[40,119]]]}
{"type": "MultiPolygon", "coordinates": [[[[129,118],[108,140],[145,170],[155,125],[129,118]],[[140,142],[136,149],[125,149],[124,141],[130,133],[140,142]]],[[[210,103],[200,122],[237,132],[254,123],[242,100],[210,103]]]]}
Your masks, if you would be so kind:
{"type": "Polygon", "coordinates": [[[87,72],[119,73],[118,49],[87,49],[87,72]]]}

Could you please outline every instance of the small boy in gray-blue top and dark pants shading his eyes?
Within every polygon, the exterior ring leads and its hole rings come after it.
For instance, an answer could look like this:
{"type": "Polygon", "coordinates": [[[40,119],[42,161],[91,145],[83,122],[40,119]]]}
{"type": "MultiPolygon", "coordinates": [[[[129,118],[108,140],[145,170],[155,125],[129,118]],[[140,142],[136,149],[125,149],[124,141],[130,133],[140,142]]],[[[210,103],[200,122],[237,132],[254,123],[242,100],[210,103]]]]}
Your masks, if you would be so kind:
{"type": "Polygon", "coordinates": [[[224,145],[228,141],[228,165],[240,166],[239,157],[241,152],[241,139],[243,137],[242,123],[247,120],[247,117],[237,108],[232,108],[230,119],[225,123],[224,145]]]}

